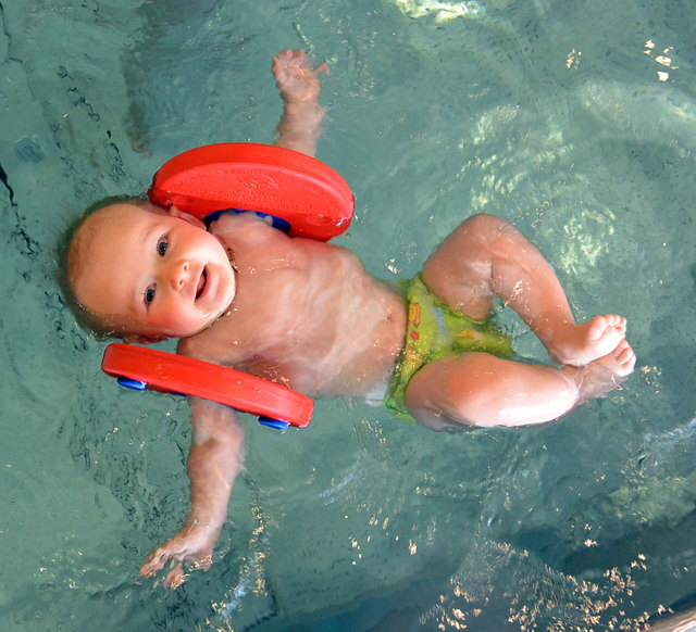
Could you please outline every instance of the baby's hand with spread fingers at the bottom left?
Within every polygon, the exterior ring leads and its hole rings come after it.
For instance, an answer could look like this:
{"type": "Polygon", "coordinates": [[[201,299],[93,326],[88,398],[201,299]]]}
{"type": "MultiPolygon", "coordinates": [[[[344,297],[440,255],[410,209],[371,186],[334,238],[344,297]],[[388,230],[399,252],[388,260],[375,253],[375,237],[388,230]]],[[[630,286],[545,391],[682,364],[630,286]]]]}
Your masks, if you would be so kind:
{"type": "Polygon", "coordinates": [[[144,578],[154,577],[172,560],[171,569],[164,579],[164,585],[176,589],[187,579],[184,570],[186,564],[191,570],[208,570],[213,561],[213,547],[216,535],[202,528],[184,527],[174,538],[156,548],[145,560],[140,574],[144,578]]]}

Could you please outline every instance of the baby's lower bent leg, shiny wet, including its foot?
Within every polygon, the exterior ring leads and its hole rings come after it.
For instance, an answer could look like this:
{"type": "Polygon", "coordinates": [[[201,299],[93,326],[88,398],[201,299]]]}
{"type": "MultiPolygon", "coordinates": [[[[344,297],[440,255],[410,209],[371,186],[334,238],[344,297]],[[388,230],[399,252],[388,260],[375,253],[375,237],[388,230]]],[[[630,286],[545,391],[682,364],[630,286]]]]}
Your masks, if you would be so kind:
{"type": "Polygon", "coordinates": [[[614,389],[633,370],[623,340],[584,367],[526,365],[487,353],[435,361],[411,379],[406,402],[424,426],[529,426],[562,417],[614,389]]]}

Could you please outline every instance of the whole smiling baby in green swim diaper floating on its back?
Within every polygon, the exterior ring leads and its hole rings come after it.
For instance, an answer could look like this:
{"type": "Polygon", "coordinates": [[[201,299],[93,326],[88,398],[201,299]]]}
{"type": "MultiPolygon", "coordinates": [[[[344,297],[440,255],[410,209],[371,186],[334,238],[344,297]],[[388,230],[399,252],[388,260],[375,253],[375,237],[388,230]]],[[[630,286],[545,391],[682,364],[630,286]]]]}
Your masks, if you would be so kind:
{"type": "MultiPolygon", "coordinates": [[[[285,102],[277,146],[313,155],[323,110],[319,75],[301,51],[274,58],[285,102]]],[[[102,330],[126,341],[179,338],[178,353],[260,376],[311,395],[382,390],[397,414],[434,430],[526,426],[566,415],[629,376],[635,355],[625,318],[575,324],[551,267],[502,219],[475,215],[397,293],[348,250],[290,238],[251,214],[223,214],[210,230],[176,207],[110,204],[71,242],[75,300],[102,330]],[[494,300],[512,307],[557,366],[511,359],[487,321],[494,300]]],[[[243,468],[234,409],[190,397],[190,511],[140,573],[171,560],[207,570],[243,468]]]]}

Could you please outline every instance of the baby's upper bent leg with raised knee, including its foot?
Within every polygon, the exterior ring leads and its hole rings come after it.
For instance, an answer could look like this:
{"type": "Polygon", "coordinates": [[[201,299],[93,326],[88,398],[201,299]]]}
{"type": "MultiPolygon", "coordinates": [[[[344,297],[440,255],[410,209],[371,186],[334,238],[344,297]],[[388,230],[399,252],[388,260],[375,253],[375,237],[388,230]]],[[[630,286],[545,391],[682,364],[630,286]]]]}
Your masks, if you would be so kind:
{"type": "Polygon", "coordinates": [[[519,230],[492,215],[474,215],[431,255],[423,278],[450,307],[483,319],[500,296],[559,364],[583,366],[625,337],[625,318],[596,316],[575,325],[551,266],[519,230]]]}

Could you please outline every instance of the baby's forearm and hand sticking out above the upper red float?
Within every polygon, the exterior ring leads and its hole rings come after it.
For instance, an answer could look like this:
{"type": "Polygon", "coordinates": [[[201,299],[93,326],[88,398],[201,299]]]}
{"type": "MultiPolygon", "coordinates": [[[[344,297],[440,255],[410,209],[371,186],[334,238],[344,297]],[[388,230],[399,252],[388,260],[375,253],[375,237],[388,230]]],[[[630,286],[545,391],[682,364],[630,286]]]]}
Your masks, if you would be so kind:
{"type": "Polygon", "coordinates": [[[304,51],[284,50],[273,58],[273,76],[285,102],[274,144],[313,156],[321,136],[324,109],[319,104],[319,75],[328,74],[328,65],[312,63],[304,51]]]}

